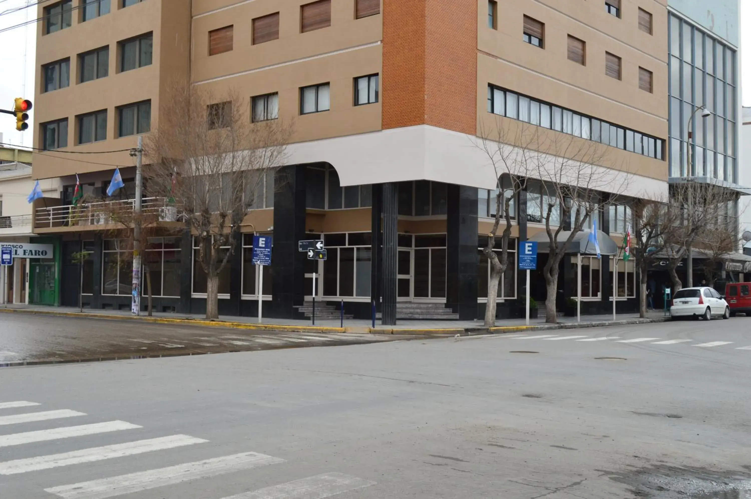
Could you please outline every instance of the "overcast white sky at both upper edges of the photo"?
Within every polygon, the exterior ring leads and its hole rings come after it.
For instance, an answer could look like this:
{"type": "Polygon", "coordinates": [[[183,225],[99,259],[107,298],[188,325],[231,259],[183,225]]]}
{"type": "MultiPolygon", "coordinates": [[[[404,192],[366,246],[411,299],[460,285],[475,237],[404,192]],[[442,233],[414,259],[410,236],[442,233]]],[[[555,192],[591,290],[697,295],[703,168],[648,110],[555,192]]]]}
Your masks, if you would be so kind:
{"type": "MultiPolygon", "coordinates": [[[[5,11],[34,4],[36,1],[0,0],[0,29],[34,20],[36,16],[35,7],[9,14],[5,14],[5,11]]],[[[749,21],[751,21],[751,0],[742,0],[740,26],[751,26],[749,21]]],[[[0,50],[0,68],[2,68],[2,72],[0,72],[0,109],[11,109],[13,99],[16,97],[34,100],[36,28],[36,24],[31,24],[0,33],[0,47],[2,47],[2,50],[0,50]]],[[[741,29],[740,32],[742,33],[743,30],[741,29]]],[[[751,48],[749,43],[751,42],[746,40],[742,45],[745,48],[751,48]]],[[[741,50],[740,52],[743,70],[741,72],[743,105],[751,106],[751,50],[741,50]]],[[[30,114],[30,122],[33,122],[34,111],[32,110],[30,114]]],[[[2,134],[2,142],[4,143],[31,146],[34,129],[35,127],[31,125],[29,131],[16,131],[16,122],[13,117],[0,114],[0,134],[2,134]]]]}

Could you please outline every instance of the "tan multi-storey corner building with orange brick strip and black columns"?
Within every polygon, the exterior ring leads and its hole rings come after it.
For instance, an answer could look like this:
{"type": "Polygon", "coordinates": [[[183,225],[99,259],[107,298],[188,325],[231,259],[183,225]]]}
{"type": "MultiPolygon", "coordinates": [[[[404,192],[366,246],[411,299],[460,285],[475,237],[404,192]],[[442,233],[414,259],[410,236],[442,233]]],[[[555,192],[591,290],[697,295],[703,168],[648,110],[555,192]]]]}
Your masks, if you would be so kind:
{"type": "MultiPolygon", "coordinates": [[[[65,305],[77,302],[80,277],[70,256],[84,248],[84,302],[130,306],[131,269],[107,221],[65,220],[76,173],[84,193],[109,202],[119,165],[126,186],[117,195],[132,199],[127,149],[158,128],[173,77],[217,96],[232,90],[249,120],[295,121],[289,166],[277,174],[284,185],[267,177],[220,276],[221,314],[256,314],[261,293],[266,316],[302,318],[316,273],[318,299],[343,302],[354,317],[370,317],[372,302],[387,323],[482,317],[489,269],[478,248],[492,226],[496,174],[477,144],[498,124],[603,143],[608,165],[630,176],[624,199],[667,194],[664,0],[65,0],[39,14],[35,146],[47,151],[35,155],[34,177],[64,187],[59,200],[35,204],[35,232],[62,239],[65,305]],[[273,235],[263,290],[250,224],[273,235]],[[318,238],[327,260],[306,260],[297,242],[318,238]]],[[[515,250],[544,230],[540,188],[531,179],[511,203],[499,317],[517,314],[525,294],[515,250]]],[[[629,216],[625,203],[595,215],[619,242],[629,216]]],[[[147,248],[156,310],[204,311],[193,246],[184,233],[147,248]]],[[[610,310],[608,257],[584,260],[582,310],[610,310]]],[[[565,296],[576,296],[575,261],[563,264],[565,296]]],[[[623,262],[617,272],[617,299],[635,308],[635,272],[623,262]]],[[[537,272],[531,296],[544,293],[537,272]]]]}

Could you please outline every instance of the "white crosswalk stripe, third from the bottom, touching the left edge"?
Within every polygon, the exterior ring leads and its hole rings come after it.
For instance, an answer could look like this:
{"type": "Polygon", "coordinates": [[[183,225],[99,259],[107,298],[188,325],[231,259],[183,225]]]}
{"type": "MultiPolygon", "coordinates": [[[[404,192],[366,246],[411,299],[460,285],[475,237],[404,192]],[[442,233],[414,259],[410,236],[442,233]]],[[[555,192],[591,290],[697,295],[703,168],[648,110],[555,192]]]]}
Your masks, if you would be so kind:
{"type": "Polygon", "coordinates": [[[104,459],[122,458],[125,455],[143,454],[163,449],[174,449],[205,443],[209,440],[190,435],[170,435],[169,437],[149,438],[135,442],[116,443],[91,449],[62,452],[61,454],[41,455],[36,458],[16,459],[0,462],[0,475],[15,475],[29,471],[48,470],[52,467],[70,466],[71,464],[104,461],[104,459]]]}

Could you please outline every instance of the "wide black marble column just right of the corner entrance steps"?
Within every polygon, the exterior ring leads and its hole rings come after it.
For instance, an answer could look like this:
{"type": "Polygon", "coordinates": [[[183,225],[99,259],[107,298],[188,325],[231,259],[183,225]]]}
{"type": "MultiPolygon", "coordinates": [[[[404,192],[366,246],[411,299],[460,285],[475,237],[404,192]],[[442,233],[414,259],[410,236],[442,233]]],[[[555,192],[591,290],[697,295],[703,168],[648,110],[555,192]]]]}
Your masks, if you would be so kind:
{"type": "Polygon", "coordinates": [[[478,190],[448,185],[446,215],[446,306],[460,320],[475,320],[477,306],[478,190]]]}

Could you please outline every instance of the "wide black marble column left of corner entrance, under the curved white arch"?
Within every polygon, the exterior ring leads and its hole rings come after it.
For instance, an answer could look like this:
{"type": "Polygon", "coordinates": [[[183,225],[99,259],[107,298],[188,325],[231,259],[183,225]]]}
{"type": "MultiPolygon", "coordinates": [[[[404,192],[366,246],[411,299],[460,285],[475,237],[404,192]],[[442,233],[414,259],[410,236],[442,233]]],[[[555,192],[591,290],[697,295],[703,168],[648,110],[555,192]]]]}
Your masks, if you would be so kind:
{"type": "Polygon", "coordinates": [[[297,251],[305,237],[306,166],[292,165],[278,170],[274,177],[274,245],[271,253],[273,317],[300,318],[293,308],[303,305],[306,254],[297,251]]]}

